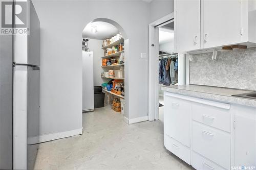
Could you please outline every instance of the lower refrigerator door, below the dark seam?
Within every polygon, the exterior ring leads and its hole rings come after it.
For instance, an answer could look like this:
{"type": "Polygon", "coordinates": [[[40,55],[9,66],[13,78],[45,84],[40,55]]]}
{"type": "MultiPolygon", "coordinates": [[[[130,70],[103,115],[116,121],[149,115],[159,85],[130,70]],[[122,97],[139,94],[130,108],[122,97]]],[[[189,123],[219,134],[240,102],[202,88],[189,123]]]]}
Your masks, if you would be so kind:
{"type": "Polygon", "coordinates": [[[38,143],[39,67],[16,65],[13,75],[13,167],[27,169],[27,155],[36,155],[28,152],[28,138],[38,143]]]}

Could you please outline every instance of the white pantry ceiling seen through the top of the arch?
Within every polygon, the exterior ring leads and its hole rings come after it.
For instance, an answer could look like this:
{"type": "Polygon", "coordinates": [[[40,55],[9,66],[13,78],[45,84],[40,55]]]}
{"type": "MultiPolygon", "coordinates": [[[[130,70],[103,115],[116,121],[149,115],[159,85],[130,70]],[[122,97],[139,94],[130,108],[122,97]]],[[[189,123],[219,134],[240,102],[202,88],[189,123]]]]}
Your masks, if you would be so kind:
{"type": "Polygon", "coordinates": [[[90,39],[106,39],[106,38],[111,38],[114,35],[118,34],[119,31],[115,26],[108,22],[90,22],[86,26],[86,28],[83,29],[82,31],[82,37],[83,38],[90,38],[90,39]],[[92,28],[96,27],[97,32],[94,33],[92,32],[92,28]]]}

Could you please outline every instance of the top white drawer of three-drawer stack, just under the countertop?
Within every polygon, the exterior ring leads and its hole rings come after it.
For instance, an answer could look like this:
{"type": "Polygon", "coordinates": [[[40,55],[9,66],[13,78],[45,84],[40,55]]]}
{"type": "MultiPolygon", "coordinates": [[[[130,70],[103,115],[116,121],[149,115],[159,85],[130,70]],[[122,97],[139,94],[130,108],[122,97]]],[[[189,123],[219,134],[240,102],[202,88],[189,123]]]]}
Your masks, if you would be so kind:
{"type": "Polygon", "coordinates": [[[231,114],[229,109],[204,105],[201,103],[192,103],[191,108],[193,120],[230,132],[231,114]]]}

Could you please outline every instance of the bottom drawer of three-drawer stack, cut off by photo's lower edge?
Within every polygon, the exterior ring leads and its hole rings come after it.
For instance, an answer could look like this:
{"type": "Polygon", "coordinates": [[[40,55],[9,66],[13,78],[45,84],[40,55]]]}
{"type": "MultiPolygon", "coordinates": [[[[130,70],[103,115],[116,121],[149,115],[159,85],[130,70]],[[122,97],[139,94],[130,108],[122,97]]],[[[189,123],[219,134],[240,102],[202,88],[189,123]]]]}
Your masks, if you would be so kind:
{"type": "Polygon", "coordinates": [[[192,166],[195,168],[195,169],[200,169],[200,170],[203,170],[203,169],[215,169],[215,170],[222,170],[224,169],[223,167],[219,166],[218,164],[212,162],[212,161],[209,161],[208,159],[200,156],[199,154],[193,152],[192,153],[192,166]]]}

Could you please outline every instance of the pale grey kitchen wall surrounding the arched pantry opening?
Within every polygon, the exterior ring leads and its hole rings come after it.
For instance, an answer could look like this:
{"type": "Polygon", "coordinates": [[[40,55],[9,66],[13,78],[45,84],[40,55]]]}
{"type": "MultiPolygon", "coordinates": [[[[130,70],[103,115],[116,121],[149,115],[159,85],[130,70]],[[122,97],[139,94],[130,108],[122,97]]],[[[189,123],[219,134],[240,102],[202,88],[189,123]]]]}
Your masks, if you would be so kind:
{"type": "MultiPolygon", "coordinates": [[[[149,4],[142,1],[33,1],[40,19],[40,134],[82,127],[82,30],[95,18],[119,23],[129,38],[129,119],[148,114],[149,4]],[[125,7],[125,8],[124,8],[125,7]],[[113,9],[106,12],[106,9],[113,9]],[[139,83],[139,85],[138,85],[139,83]]],[[[126,87],[127,88],[127,87],[126,87]]],[[[126,103],[126,102],[125,102],[126,103]]]]}

